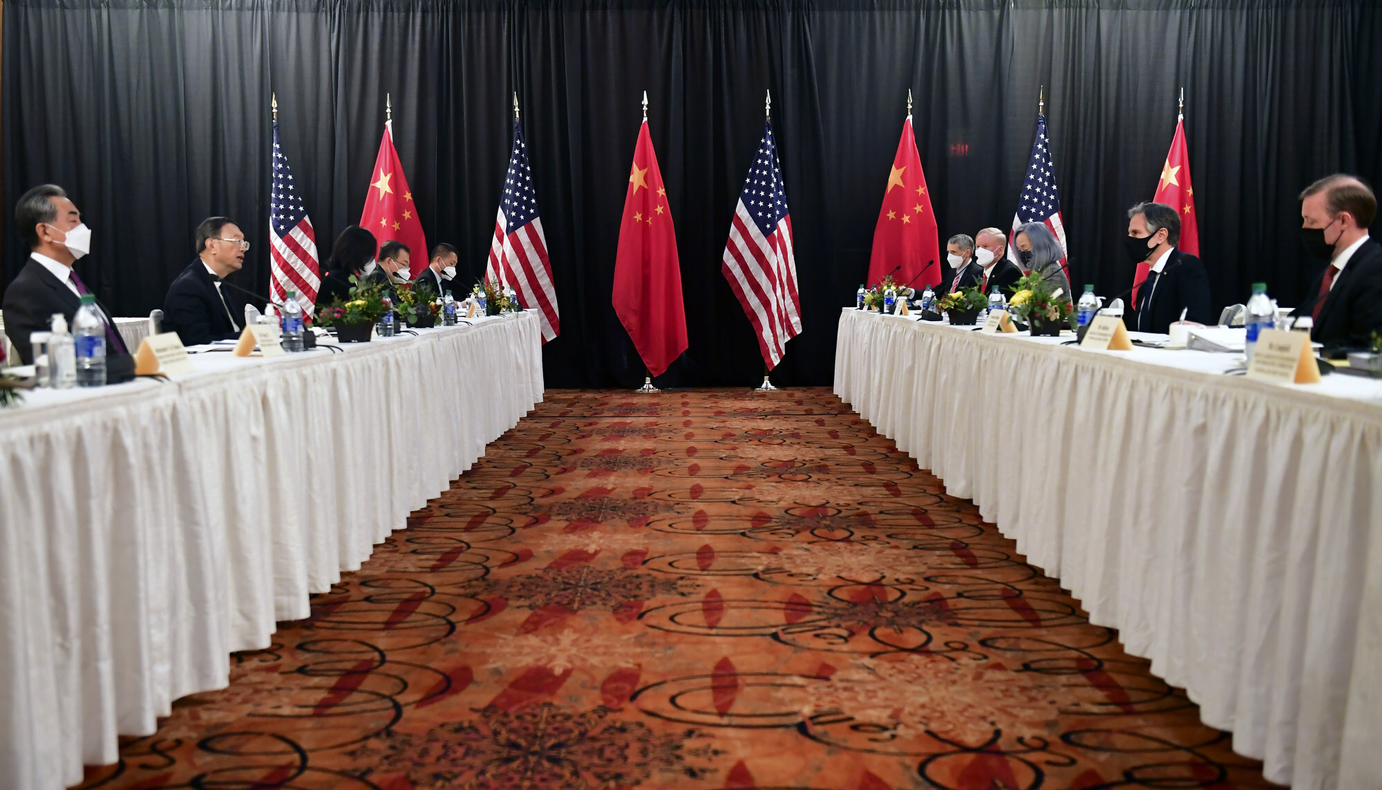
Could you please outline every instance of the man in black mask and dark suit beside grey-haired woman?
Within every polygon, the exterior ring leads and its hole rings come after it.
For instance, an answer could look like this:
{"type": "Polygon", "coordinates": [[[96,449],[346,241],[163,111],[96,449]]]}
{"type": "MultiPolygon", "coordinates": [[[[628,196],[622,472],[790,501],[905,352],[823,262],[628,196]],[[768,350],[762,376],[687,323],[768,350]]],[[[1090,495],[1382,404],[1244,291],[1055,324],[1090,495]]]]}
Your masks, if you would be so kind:
{"type": "MultiPolygon", "coordinates": [[[[1180,214],[1164,203],[1137,203],[1128,210],[1128,260],[1151,264],[1151,272],[1137,289],[1133,312],[1124,319],[1133,331],[1166,334],[1171,325],[1186,320],[1211,325],[1209,275],[1200,258],[1176,249],[1180,242],[1180,214]]],[[[1071,294],[1072,296],[1072,294],[1071,294]]]]}

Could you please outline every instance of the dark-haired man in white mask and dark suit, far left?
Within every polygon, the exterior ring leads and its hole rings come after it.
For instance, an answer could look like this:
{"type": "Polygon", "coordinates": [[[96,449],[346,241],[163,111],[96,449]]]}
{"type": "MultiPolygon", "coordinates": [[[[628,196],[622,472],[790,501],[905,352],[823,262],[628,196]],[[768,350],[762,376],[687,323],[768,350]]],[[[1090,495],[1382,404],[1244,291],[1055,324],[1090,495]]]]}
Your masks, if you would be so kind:
{"type": "MultiPolygon", "coordinates": [[[[90,251],[91,231],[82,222],[82,213],[68,193],[54,184],[25,192],[15,203],[14,220],[30,254],[19,276],[4,290],[0,309],[4,311],[4,331],[19,359],[33,365],[29,334],[48,331],[54,314],[62,314],[70,329],[82,296],[91,293],[72,269],[72,264],[90,251]]],[[[111,312],[100,301],[95,307],[105,319],[106,355],[129,354],[111,312]]]]}

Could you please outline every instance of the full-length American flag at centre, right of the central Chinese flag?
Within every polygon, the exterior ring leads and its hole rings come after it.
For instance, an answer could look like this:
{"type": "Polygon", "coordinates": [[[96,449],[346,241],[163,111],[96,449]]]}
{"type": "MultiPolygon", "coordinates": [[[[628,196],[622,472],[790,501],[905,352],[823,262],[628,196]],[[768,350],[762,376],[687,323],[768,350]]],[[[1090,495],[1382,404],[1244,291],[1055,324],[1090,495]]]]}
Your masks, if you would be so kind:
{"type": "Polygon", "coordinates": [[[768,370],[782,360],[786,341],[802,334],[796,290],[792,215],[786,210],[773,123],[763,124],[759,152],[739,192],[720,271],[753,323],[768,370]]]}

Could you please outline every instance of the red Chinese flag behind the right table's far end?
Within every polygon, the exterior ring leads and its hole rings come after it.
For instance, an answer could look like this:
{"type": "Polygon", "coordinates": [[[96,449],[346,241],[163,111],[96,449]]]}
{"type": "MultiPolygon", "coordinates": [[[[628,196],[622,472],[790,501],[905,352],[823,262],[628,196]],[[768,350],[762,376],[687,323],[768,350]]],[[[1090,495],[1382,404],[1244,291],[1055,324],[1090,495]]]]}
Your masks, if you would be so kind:
{"type": "Polygon", "coordinates": [[[878,227],[873,229],[873,256],[868,262],[868,285],[879,280],[901,265],[893,279],[905,283],[930,264],[914,286],[934,286],[941,282],[940,238],[936,233],[936,213],[931,211],[931,196],[926,192],[926,174],[922,173],[922,157],[916,153],[916,138],[912,135],[912,116],[902,122],[902,139],[897,144],[893,170],[887,174],[887,189],[883,191],[883,209],[878,213],[878,227]]]}

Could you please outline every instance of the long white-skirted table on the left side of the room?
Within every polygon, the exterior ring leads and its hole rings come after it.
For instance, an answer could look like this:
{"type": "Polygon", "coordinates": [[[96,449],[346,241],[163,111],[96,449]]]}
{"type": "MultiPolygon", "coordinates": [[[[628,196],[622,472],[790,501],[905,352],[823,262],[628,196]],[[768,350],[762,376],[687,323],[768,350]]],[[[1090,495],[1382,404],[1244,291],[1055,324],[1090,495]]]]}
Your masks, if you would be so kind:
{"type": "Polygon", "coordinates": [[[0,787],[224,688],[542,401],[535,312],[0,410],[0,787]]]}

